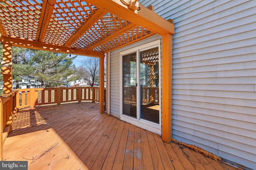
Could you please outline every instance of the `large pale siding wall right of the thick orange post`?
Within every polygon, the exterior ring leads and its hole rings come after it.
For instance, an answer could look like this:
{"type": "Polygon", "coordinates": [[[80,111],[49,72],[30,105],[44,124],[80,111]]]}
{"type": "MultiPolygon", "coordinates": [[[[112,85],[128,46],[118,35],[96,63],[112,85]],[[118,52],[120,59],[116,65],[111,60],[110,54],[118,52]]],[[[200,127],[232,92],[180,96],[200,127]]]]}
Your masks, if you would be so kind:
{"type": "Polygon", "coordinates": [[[256,168],[256,0],[139,0],[173,19],[172,133],[256,168]]]}

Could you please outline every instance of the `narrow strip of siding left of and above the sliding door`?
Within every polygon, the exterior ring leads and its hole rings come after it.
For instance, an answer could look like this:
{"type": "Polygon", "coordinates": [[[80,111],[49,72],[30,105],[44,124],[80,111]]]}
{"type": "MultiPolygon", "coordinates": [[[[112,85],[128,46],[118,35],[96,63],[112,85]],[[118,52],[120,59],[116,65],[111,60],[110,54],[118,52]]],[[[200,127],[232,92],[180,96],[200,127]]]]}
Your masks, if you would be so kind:
{"type": "Polygon", "coordinates": [[[139,45],[161,39],[159,35],[154,35],[145,39],[144,41],[138,41],[127,47],[120,48],[110,53],[110,114],[120,118],[120,52],[139,45]]]}

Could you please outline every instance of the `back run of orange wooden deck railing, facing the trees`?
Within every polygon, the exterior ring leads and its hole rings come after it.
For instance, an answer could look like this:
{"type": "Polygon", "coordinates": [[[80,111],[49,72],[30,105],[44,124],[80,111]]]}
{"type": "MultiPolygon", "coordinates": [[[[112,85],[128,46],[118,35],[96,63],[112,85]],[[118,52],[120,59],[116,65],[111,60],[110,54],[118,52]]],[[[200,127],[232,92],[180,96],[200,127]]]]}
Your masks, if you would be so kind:
{"type": "Polygon", "coordinates": [[[99,87],[27,88],[17,92],[18,109],[75,101],[99,102],[99,87]]]}

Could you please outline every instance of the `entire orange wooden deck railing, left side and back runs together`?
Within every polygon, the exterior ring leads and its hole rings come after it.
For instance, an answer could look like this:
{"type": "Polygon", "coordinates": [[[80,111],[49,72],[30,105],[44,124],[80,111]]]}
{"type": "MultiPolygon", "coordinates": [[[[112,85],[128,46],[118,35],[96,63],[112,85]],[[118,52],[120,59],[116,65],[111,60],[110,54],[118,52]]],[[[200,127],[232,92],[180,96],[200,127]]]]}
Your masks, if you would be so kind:
{"type": "Polygon", "coordinates": [[[12,121],[16,119],[19,109],[76,101],[99,102],[99,89],[99,87],[27,88],[14,90],[12,94],[2,94],[0,96],[0,160],[3,158],[4,141],[8,133],[12,132],[12,121]]]}

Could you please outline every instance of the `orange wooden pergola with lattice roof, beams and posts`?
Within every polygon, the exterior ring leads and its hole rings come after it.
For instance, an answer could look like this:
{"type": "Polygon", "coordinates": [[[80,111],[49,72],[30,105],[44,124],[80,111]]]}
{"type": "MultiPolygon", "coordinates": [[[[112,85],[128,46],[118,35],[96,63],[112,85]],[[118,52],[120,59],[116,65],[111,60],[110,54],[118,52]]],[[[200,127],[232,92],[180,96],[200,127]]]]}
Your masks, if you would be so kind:
{"type": "Polygon", "coordinates": [[[104,113],[105,53],[154,34],[162,36],[162,139],[172,139],[174,24],[138,0],[0,0],[4,94],[12,93],[12,46],[99,57],[104,113]]]}

